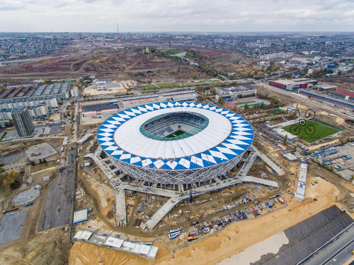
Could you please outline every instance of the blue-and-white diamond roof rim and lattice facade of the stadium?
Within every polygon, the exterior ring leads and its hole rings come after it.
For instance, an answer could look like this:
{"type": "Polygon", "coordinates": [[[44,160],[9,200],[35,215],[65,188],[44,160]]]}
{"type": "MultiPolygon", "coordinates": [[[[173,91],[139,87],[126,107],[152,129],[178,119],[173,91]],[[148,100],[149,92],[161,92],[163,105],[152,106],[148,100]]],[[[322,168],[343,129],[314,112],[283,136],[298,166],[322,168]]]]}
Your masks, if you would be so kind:
{"type": "Polygon", "coordinates": [[[191,184],[209,181],[230,171],[252,144],[253,136],[251,125],[232,111],[201,103],[161,102],[136,106],[111,116],[99,127],[97,142],[114,166],[138,181],[144,180],[161,184],[191,184]],[[173,160],[136,156],[126,152],[116,144],[114,133],[126,121],[150,111],[175,107],[201,108],[223,115],[230,121],[232,130],[222,143],[210,146],[210,149],[204,152],[173,160]],[[206,156],[211,159],[206,159],[206,156]],[[187,165],[186,161],[188,162],[187,165]]]}

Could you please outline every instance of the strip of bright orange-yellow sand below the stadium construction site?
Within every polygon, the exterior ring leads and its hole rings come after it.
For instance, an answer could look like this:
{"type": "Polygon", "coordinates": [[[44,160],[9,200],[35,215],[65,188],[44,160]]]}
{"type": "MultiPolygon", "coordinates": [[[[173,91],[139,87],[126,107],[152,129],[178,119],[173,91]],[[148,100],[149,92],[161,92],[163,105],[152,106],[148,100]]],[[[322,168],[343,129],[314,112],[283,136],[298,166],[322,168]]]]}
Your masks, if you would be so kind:
{"type": "MultiPolygon", "coordinates": [[[[319,179],[319,184],[310,185],[311,181],[312,178],[309,178],[306,189],[308,198],[305,201],[294,201],[292,195],[286,194],[288,207],[257,219],[235,222],[216,235],[176,250],[176,253],[169,253],[161,241],[155,242],[154,245],[159,247],[155,261],[101,247],[102,258],[105,264],[216,264],[333,204],[342,208],[341,204],[335,202],[340,195],[335,185],[323,179],[319,179]],[[311,199],[314,196],[318,201],[311,199]]],[[[353,214],[350,214],[353,217],[353,214]]],[[[92,264],[96,260],[99,261],[97,246],[83,242],[74,243],[69,264],[92,264]]]]}

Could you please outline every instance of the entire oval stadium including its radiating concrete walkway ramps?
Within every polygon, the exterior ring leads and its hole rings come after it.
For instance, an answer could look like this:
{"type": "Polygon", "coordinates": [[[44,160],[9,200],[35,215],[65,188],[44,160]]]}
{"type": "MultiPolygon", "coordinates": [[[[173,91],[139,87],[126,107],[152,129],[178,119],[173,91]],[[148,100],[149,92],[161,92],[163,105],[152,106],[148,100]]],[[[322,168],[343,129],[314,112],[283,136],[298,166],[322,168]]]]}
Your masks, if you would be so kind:
{"type": "Polygon", "coordinates": [[[84,157],[101,168],[115,189],[119,226],[127,224],[127,190],[169,197],[140,225],[152,230],[176,204],[187,198],[192,202],[198,194],[239,183],[279,187],[275,181],[247,175],[257,157],[284,174],[255,149],[253,137],[245,119],[218,106],[150,103],[122,110],[103,122],[97,131],[98,148],[84,157]],[[237,165],[238,173],[231,175],[237,165]]]}

